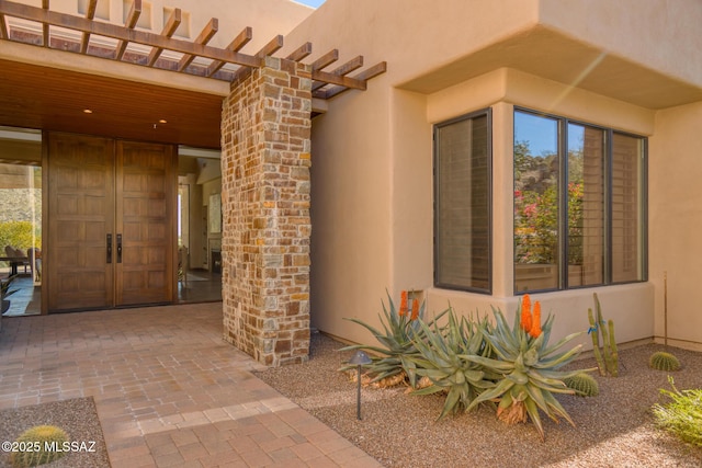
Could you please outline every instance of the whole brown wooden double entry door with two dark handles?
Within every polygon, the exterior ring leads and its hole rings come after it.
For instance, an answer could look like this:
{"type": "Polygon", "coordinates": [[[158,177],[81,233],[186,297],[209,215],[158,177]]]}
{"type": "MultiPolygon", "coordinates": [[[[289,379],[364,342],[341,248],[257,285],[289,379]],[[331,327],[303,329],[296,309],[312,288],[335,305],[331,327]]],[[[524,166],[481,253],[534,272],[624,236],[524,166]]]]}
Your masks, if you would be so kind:
{"type": "Polygon", "coordinates": [[[174,147],[49,134],[47,148],[47,310],[172,303],[174,147]]]}

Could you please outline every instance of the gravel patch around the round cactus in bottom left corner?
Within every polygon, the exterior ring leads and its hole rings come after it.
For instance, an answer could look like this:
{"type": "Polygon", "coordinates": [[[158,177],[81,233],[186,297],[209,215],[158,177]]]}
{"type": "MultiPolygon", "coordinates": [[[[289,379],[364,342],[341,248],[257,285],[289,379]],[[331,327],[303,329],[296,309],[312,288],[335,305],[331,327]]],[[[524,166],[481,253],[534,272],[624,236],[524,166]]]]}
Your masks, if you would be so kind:
{"type": "MultiPolygon", "coordinates": [[[[52,468],[109,468],[107,448],[92,398],[76,398],[44,404],[33,404],[0,411],[0,441],[15,441],[20,434],[36,425],[57,425],[68,434],[71,442],[84,442],[77,452],[48,465],[52,468]],[[94,445],[91,444],[94,442],[94,445]],[[88,452],[94,449],[94,452],[88,452]]],[[[10,454],[0,453],[0,467],[11,467],[10,454]]]]}

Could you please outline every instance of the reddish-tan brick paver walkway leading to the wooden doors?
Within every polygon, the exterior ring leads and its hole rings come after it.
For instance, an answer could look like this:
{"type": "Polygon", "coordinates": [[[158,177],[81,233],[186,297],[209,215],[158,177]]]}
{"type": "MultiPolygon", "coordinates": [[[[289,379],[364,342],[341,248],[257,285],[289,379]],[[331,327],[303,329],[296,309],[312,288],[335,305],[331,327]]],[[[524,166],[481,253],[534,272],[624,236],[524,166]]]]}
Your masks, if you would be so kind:
{"type": "Polygon", "coordinates": [[[222,340],[222,304],[4,318],[0,409],[93,397],[120,467],[378,467],[222,340]]]}

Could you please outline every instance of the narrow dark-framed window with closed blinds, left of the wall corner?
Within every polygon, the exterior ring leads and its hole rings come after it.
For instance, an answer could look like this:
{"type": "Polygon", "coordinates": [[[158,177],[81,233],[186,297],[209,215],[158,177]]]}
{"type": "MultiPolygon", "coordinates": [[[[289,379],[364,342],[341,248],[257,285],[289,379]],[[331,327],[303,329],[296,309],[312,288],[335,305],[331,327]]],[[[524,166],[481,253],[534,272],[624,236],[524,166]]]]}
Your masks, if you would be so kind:
{"type": "Polygon", "coordinates": [[[491,292],[490,112],[434,127],[434,284],[491,292]]]}

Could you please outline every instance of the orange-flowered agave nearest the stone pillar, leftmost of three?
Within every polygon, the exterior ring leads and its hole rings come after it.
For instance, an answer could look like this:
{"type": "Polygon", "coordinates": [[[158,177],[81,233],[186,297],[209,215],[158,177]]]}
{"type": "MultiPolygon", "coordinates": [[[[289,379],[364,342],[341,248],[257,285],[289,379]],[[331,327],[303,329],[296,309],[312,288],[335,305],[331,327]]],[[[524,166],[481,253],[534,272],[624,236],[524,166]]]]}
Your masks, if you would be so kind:
{"type": "MultiPolygon", "coordinates": [[[[383,304],[383,316],[378,313],[383,330],[376,329],[369,323],[356,318],[347,318],[367,329],[373,336],[381,343],[381,346],[372,346],[366,344],[354,344],[346,346],[341,351],[365,350],[371,354],[373,362],[365,366],[373,376],[371,383],[383,379],[389,379],[403,373],[407,375],[409,385],[416,387],[417,375],[415,365],[408,359],[409,356],[417,353],[414,336],[421,336],[426,304],[419,305],[417,300],[412,303],[411,311],[407,306],[407,292],[401,293],[400,307],[397,309],[393,303],[393,298],[387,293],[388,307],[383,304]]],[[[448,309],[437,315],[428,323],[435,323],[439,318],[446,313],[448,309]]],[[[339,370],[349,370],[352,365],[341,367],[339,370]]]]}

